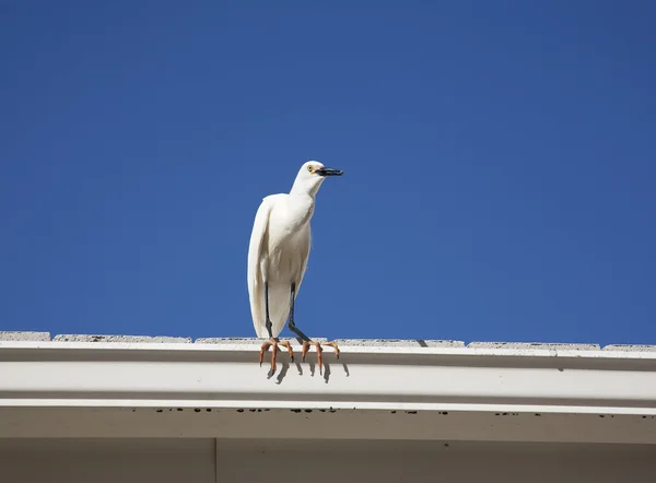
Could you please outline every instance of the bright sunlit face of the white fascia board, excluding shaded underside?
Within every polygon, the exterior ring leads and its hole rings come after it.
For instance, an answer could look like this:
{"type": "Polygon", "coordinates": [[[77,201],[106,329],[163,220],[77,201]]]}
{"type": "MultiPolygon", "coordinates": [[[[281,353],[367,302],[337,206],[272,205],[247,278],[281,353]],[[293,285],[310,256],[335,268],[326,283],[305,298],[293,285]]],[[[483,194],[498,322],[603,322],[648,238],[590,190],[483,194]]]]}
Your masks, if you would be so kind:
{"type": "Polygon", "coordinates": [[[343,346],[268,378],[259,345],[0,342],[0,407],[342,407],[656,415],[656,353],[343,346]],[[30,397],[35,396],[35,397],[30,397]],[[22,402],[21,402],[22,401],[22,402]],[[307,405],[311,404],[311,405],[307,405]]]}

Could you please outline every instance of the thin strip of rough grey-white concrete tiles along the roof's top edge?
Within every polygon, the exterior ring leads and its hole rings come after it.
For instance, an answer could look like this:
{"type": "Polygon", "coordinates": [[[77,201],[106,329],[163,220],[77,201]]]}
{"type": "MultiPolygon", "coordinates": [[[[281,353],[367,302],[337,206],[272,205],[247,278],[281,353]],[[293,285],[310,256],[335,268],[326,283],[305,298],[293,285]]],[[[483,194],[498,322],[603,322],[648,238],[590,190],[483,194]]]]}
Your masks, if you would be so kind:
{"type": "MultiPolygon", "coordinates": [[[[294,338],[283,337],[281,340],[293,341],[294,338]]],[[[124,343],[197,343],[197,344],[261,344],[266,339],[258,338],[199,338],[192,340],[184,337],[166,335],[118,335],[118,334],[59,334],[50,338],[49,332],[20,332],[0,331],[0,341],[56,341],[56,342],[124,342],[124,343]]],[[[318,342],[327,342],[326,338],[313,338],[318,342]]],[[[599,344],[570,344],[552,342],[483,342],[421,339],[336,339],[340,346],[383,346],[383,347],[469,347],[469,349],[515,349],[515,350],[544,350],[559,351],[620,351],[620,352],[656,352],[656,345],[641,344],[609,344],[601,347],[599,344]]],[[[302,341],[296,339],[297,343],[302,341]]]]}

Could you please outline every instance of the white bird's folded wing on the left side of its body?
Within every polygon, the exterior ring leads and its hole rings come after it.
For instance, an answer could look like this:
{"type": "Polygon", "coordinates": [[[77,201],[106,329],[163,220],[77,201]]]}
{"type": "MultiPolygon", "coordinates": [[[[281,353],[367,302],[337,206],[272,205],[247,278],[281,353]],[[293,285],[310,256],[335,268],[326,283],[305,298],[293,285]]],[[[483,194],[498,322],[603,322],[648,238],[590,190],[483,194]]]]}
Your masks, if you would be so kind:
{"type": "Polygon", "coordinates": [[[269,215],[281,195],[266,197],[255,214],[250,243],[248,245],[248,298],[250,301],[250,315],[258,337],[267,337],[265,310],[265,278],[262,261],[267,251],[269,215]]]}

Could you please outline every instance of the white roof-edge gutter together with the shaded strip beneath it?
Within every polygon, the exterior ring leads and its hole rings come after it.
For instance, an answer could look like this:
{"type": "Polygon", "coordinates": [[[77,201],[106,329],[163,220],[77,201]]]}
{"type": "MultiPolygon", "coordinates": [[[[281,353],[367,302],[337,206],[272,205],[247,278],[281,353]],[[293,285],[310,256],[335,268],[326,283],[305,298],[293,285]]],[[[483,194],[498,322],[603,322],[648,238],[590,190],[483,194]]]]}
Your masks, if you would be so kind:
{"type": "Polygon", "coordinates": [[[656,443],[656,352],[256,342],[0,342],[0,437],[656,443]]]}

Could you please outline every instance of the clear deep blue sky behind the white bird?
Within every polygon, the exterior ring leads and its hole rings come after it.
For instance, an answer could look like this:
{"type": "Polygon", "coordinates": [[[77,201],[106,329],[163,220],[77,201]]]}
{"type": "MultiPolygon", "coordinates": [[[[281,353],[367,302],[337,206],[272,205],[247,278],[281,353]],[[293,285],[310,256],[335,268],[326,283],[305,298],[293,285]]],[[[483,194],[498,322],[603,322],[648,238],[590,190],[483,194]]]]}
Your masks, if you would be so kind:
{"type": "Polygon", "coordinates": [[[319,160],[309,335],[656,343],[654,2],[92,3],[0,3],[0,330],[254,335],[319,160]]]}

